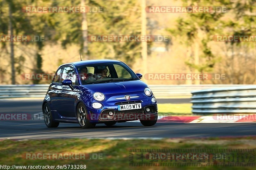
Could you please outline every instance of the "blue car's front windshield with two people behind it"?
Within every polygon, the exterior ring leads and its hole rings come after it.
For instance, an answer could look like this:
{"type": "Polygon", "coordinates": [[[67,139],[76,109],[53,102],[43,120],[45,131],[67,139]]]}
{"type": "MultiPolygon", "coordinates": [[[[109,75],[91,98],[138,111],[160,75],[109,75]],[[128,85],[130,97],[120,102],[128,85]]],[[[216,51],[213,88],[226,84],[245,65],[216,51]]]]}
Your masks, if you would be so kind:
{"type": "Polygon", "coordinates": [[[121,62],[86,64],[77,68],[83,85],[138,79],[137,75],[121,62]]]}

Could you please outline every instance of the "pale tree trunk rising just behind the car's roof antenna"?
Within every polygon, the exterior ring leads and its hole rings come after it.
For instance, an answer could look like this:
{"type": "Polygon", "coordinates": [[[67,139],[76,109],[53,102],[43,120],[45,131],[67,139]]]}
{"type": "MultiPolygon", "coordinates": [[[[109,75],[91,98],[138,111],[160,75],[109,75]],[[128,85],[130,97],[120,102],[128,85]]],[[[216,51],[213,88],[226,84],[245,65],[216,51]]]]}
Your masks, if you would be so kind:
{"type": "MultiPolygon", "coordinates": [[[[81,0],[81,6],[85,6],[85,0],[81,0]]],[[[88,42],[87,42],[87,33],[88,33],[87,17],[86,13],[82,13],[82,35],[83,35],[83,60],[88,60],[88,42]]]]}

